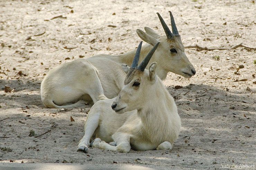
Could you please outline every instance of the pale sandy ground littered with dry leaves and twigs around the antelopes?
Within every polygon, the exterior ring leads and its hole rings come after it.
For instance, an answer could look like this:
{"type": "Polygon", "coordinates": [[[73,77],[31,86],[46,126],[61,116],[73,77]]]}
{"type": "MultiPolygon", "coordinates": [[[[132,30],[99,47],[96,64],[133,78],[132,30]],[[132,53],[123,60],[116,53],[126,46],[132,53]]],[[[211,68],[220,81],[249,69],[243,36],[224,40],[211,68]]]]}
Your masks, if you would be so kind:
{"type": "Polygon", "coordinates": [[[170,21],[170,10],[185,46],[229,48],[244,43],[256,47],[252,0],[0,1],[0,162],[129,164],[154,169],[254,164],[256,168],[253,50],[185,49],[196,76],[185,79],[168,73],[164,81],[182,120],[172,151],[116,153],[93,148],[88,154],[76,152],[91,106],[44,108],[40,83],[50,69],[79,56],[135,49],[140,42],[137,28],[147,26],[164,35],[156,12],[170,21]],[[235,74],[241,64],[244,68],[235,74]],[[177,85],[183,88],[175,89],[177,85]],[[5,86],[11,92],[5,92],[5,86]],[[35,134],[30,137],[32,130],[35,134]]]}

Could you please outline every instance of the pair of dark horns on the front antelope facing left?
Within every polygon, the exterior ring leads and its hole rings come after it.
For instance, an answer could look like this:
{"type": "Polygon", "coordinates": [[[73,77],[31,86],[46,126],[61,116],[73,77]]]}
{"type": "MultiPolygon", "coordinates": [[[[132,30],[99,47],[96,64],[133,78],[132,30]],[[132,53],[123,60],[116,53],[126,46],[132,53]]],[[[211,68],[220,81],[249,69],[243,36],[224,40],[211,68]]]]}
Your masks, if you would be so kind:
{"type": "Polygon", "coordinates": [[[139,46],[138,46],[137,51],[136,51],[136,54],[135,54],[134,59],[132,61],[130,70],[133,71],[134,69],[137,68],[140,71],[144,71],[145,68],[147,67],[147,64],[148,64],[149,60],[151,59],[151,57],[153,56],[154,52],[156,51],[156,48],[159,45],[159,43],[160,42],[156,43],[156,45],[149,51],[147,56],[144,58],[144,60],[140,63],[140,65],[138,67],[139,55],[140,55],[140,50],[141,50],[141,46],[142,46],[142,41],[141,41],[139,43],[139,46]]]}

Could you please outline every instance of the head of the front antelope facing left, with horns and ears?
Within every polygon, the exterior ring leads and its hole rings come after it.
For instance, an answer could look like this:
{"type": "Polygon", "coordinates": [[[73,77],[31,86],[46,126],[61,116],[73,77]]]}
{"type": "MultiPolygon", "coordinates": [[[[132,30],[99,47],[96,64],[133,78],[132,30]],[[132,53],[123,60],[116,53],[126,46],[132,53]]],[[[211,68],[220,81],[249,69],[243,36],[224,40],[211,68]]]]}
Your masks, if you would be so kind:
{"type": "Polygon", "coordinates": [[[112,103],[112,109],[117,113],[124,113],[132,110],[139,110],[145,103],[147,93],[151,92],[154,88],[153,84],[156,81],[156,62],[153,62],[149,70],[145,70],[150,58],[156,50],[159,43],[148,53],[147,57],[138,66],[139,52],[141,48],[140,43],[137,52],[132,62],[131,67],[126,64],[122,64],[122,69],[127,73],[125,79],[125,86],[119,92],[116,100],[112,103]],[[151,90],[150,90],[151,89],[151,90]]]}

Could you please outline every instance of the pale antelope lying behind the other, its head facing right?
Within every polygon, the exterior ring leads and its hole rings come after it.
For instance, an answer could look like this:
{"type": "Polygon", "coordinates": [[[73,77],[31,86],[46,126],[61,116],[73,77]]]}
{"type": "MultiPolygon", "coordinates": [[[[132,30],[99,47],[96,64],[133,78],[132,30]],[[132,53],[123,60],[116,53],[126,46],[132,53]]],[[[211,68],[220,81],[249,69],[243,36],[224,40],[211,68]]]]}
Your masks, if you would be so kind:
{"type": "MultiPolygon", "coordinates": [[[[167,27],[159,13],[158,17],[166,36],[159,36],[152,29],[145,27],[145,32],[137,29],[138,36],[148,44],[141,48],[141,62],[152,46],[160,42],[152,56],[158,63],[156,73],[164,80],[169,71],[186,78],[195,75],[195,69],[186,57],[181,37],[177,31],[172,13],[172,31],[167,27]]],[[[78,107],[79,100],[93,101],[113,98],[124,86],[125,73],[121,63],[131,66],[135,51],[110,56],[100,54],[88,59],[78,59],[50,70],[41,84],[41,98],[48,108],[78,107]]],[[[146,67],[148,69],[148,67],[146,67]]]]}

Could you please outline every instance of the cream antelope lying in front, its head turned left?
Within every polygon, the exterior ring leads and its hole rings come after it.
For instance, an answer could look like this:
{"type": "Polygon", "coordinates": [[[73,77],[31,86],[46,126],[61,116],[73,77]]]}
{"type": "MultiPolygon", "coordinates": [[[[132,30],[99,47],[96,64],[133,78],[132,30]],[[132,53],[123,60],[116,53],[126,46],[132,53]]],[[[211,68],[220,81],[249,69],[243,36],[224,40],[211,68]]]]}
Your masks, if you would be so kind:
{"type": "Polygon", "coordinates": [[[127,73],[124,87],[116,98],[99,100],[92,106],[77,151],[88,153],[89,144],[117,152],[172,149],[181,128],[176,104],[156,75],[157,63],[144,70],[158,44],[139,67],[141,43],[131,68],[122,64],[127,73]],[[90,143],[91,138],[96,139],[90,143]]]}

